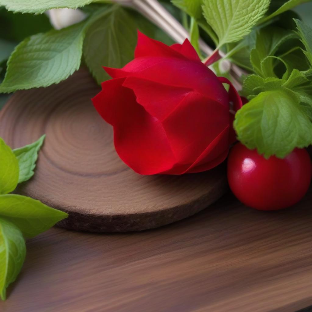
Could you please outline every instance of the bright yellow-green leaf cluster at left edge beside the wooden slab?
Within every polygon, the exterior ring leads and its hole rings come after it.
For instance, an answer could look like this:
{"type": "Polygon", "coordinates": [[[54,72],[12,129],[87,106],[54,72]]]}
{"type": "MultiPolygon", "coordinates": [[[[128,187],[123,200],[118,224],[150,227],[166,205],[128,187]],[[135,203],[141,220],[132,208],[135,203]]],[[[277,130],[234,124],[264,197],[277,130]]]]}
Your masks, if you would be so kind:
{"type": "Polygon", "coordinates": [[[22,268],[25,238],[48,230],[67,213],[46,206],[30,197],[9,194],[18,183],[30,179],[45,136],[12,150],[0,138],[0,297],[6,299],[7,286],[22,268]]]}

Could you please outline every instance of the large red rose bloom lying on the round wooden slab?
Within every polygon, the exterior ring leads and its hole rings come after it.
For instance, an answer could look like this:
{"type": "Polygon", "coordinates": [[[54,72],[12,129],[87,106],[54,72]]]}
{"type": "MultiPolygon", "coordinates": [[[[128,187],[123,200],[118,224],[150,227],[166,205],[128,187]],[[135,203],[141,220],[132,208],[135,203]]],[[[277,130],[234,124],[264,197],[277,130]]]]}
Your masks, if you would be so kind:
{"type": "Polygon", "coordinates": [[[221,163],[233,140],[231,83],[199,59],[188,40],[167,46],[139,33],[135,58],[122,69],[105,68],[92,101],[114,127],[119,157],[140,174],[182,174],[221,163]],[[229,93],[222,83],[230,84],[229,93]]]}

